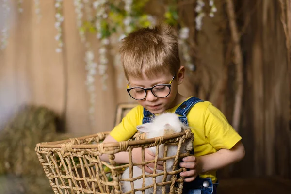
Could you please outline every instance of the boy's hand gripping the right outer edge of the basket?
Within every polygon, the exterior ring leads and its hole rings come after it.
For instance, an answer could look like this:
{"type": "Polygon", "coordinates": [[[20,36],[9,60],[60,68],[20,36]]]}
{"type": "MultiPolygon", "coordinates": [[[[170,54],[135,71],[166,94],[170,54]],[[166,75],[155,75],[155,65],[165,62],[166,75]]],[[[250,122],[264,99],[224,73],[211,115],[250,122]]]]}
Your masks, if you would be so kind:
{"type": "Polygon", "coordinates": [[[185,177],[185,182],[191,182],[195,180],[195,178],[201,172],[201,164],[199,163],[198,158],[195,156],[187,156],[183,158],[183,162],[180,162],[179,165],[181,167],[188,168],[187,171],[180,173],[181,177],[185,177]]]}

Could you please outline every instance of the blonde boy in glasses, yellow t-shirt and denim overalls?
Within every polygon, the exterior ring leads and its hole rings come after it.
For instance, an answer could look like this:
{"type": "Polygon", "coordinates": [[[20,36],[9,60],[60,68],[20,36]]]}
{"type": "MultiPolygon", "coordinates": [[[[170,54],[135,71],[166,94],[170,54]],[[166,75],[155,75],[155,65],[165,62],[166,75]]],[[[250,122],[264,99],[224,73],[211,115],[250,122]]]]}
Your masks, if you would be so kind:
{"type": "MultiPolygon", "coordinates": [[[[194,133],[194,154],[182,159],[181,172],[186,190],[204,194],[216,193],[216,170],[244,157],[240,135],[228,124],[225,116],[210,102],[195,97],[183,97],[178,85],[184,80],[185,67],[180,65],[178,40],[166,25],[143,28],[122,40],[120,55],[130,97],[140,104],[133,108],[104,142],[128,140],[136,127],[149,121],[151,116],[164,112],[176,113],[194,133]],[[211,189],[211,190],[209,190],[211,189]]],[[[133,149],[133,162],[141,162],[141,148],[133,149]]],[[[155,156],[145,150],[145,161],[155,156]]],[[[102,160],[108,161],[103,155],[102,160]]],[[[115,154],[117,163],[128,163],[128,153],[115,154]]],[[[153,163],[145,166],[152,173],[153,163]]],[[[162,165],[158,165],[162,170],[162,165]]]]}

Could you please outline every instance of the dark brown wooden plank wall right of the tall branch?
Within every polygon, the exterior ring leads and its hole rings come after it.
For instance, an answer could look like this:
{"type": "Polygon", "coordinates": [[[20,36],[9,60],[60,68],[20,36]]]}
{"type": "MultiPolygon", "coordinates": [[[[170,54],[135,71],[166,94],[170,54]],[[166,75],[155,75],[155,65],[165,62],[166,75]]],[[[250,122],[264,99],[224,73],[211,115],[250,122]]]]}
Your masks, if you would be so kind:
{"type": "MultiPolygon", "coordinates": [[[[290,75],[279,1],[246,0],[242,18],[257,7],[242,35],[244,101],[240,133],[246,147],[242,162],[224,176],[291,178],[289,129],[290,75]]],[[[239,7],[239,6],[238,6],[239,7]]]]}

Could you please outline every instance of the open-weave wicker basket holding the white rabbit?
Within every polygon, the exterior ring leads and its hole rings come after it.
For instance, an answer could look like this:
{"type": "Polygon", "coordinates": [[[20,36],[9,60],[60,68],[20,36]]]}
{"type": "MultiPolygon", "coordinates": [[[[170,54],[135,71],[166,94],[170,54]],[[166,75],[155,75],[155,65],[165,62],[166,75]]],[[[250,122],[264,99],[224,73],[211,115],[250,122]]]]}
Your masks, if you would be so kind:
{"type": "MultiPolygon", "coordinates": [[[[72,138],[64,141],[40,143],[36,145],[35,151],[38,159],[44,168],[49,183],[56,194],[121,194],[122,181],[134,181],[132,178],[132,168],[135,165],[142,166],[143,182],[146,177],[153,177],[153,184],[143,188],[132,188],[125,194],[139,191],[143,194],[148,188],[153,188],[153,193],[157,192],[157,186],[162,187],[162,193],[165,194],[165,185],[170,186],[170,193],[182,193],[183,178],[177,176],[184,168],[178,167],[178,160],[181,157],[188,156],[189,153],[180,154],[182,143],[186,140],[193,140],[193,133],[190,129],[181,133],[171,134],[163,137],[152,139],[144,139],[143,134],[135,134],[129,141],[117,143],[102,143],[109,132],[101,132],[90,136],[72,138]],[[154,161],[145,162],[144,149],[164,144],[164,152],[167,151],[167,145],[178,145],[176,156],[159,158],[156,156],[154,161]],[[142,162],[132,163],[131,151],[133,148],[142,148],[142,162]],[[129,163],[117,164],[114,162],[114,154],[128,151],[129,163]],[[108,154],[109,162],[100,160],[101,154],[108,154]],[[174,166],[171,172],[162,171],[147,175],[145,174],[144,165],[154,162],[155,166],[158,161],[164,161],[164,169],[166,160],[174,159],[174,166]],[[123,171],[129,167],[129,179],[122,180],[123,171]],[[155,177],[163,175],[163,182],[156,183],[155,177]],[[166,181],[167,175],[171,175],[170,181],[166,181]]],[[[158,151],[158,149],[157,149],[158,151]]],[[[166,156],[166,154],[164,154],[166,156]]],[[[145,184],[143,184],[145,185],[145,184]]],[[[131,184],[133,187],[133,184],[131,184]]],[[[161,192],[161,191],[160,191],[161,192]]]]}

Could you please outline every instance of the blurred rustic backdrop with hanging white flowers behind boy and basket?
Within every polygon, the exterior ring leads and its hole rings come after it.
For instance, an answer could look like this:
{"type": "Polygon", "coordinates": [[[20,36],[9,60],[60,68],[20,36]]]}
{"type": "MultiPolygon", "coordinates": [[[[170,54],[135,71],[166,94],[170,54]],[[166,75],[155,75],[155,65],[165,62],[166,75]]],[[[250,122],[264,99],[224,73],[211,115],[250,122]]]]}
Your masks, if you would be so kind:
{"type": "Polygon", "coordinates": [[[2,0],[1,194],[53,193],[37,143],[113,129],[134,102],[119,41],[159,22],[179,37],[180,93],[212,102],[242,136],[246,156],[218,171],[218,191],[290,191],[291,0],[2,0]]]}

